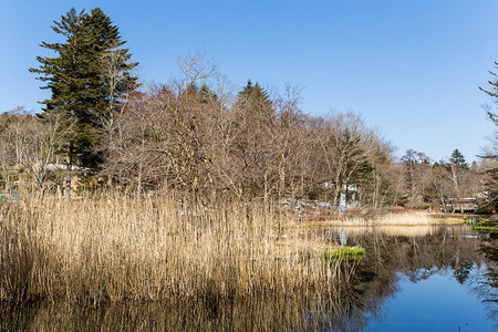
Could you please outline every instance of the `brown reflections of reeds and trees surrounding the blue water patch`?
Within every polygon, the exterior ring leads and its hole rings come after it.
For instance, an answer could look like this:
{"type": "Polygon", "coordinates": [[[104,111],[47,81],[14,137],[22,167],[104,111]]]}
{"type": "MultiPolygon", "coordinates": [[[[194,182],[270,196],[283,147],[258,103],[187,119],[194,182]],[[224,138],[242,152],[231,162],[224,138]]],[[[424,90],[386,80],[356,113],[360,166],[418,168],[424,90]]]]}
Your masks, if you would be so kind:
{"type": "MultiPolygon", "coordinates": [[[[268,331],[363,330],[386,320],[403,280],[418,283],[449,274],[497,319],[496,240],[466,226],[313,229],[315,236],[362,246],[362,260],[344,261],[342,282],[295,294],[245,301],[181,299],[87,308],[68,303],[0,308],[0,330],[39,331],[268,331]]],[[[437,303],[435,303],[437,305],[437,303]]]]}

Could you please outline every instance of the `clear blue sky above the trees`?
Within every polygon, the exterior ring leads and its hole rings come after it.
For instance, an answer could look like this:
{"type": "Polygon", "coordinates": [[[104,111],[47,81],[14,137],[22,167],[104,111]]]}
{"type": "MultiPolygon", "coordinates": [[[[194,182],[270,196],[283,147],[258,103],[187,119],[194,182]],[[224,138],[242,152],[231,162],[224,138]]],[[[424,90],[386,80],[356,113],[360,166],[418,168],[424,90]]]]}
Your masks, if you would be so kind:
{"type": "Polygon", "coordinates": [[[207,49],[236,86],[300,85],[305,113],[354,111],[398,156],[473,160],[494,131],[478,86],[498,61],[497,0],[0,0],[0,112],[40,110],[49,92],[28,68],[72,7],[113,19],[142,82],[166,83],[176,55],[207,49]]]}

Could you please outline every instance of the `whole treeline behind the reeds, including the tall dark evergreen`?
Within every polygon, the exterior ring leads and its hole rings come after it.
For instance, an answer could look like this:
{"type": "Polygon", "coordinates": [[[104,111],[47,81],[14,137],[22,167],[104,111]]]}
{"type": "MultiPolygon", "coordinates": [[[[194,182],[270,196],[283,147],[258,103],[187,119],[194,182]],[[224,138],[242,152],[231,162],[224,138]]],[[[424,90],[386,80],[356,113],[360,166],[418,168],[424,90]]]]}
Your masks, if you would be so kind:
{"type": "Polygon", "coordinates": [[[486,163],[469,166],[458,151],[440,163],[408,151],[397,162],[359,115],[304,114],[292,86],[270,95],[249,81],[234,93],[206,54],[180,58],[179,80],[139,86],[137,63],[98,8],[73,9],[53,30],[65,43],[43,43],[58,56],[39,58],[31,69],[52,92],[43,112],[0,117],[6,189],[22,175],[31,189],[45,190],[61,185],[64,167],[77,166],[93,184],[137,193],[321,199],[333,207],[351,198],[352,185],[372,208],[430,206],[485,190],[486,163]]]}

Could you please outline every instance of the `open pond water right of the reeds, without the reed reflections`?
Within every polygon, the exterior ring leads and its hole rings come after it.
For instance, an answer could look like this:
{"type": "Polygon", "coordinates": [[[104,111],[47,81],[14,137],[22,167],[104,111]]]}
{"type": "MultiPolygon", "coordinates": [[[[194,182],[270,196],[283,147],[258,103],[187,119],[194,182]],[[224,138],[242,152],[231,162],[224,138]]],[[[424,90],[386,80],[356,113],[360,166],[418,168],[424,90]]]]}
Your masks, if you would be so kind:
{"type": "MultiPolygon", "coordinates": [[[[490,331],[498,328],[496,248],[465,225],[329,230],[366,248],[356,273],[372,273],[369,331],[490,331]],[[488,252],[488,255],[486,255],[488,252]],[[383,280],[380,282],[380,280],[383,280]],[[386,290],[380,293],[380,290],[386,290]]],[[[359,278],[359,284],[365,280],[359,278]]]]}

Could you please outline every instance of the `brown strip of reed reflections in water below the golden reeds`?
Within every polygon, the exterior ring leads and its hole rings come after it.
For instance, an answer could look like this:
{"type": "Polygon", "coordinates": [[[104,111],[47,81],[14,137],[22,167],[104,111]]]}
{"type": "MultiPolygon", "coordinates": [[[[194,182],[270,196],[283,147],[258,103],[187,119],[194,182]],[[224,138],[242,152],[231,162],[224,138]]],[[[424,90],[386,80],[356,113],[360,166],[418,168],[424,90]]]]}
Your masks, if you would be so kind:
{"type": "MultiPolygon", "coordinates": [[[[346,307],[351,307],[350,303],[346,307]]],[[[2,308],[8,331],[268,331],[361,330],[364,311],[338,308],[335,299],[314,294],[268,297],[212,303],[183,301],[113,305],[98,309],[68,304],[2,308]]]]}

